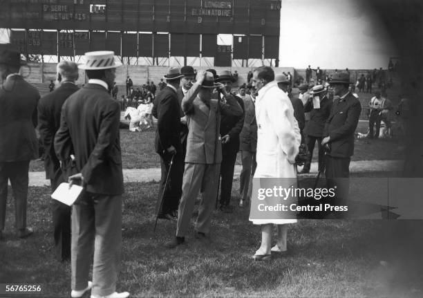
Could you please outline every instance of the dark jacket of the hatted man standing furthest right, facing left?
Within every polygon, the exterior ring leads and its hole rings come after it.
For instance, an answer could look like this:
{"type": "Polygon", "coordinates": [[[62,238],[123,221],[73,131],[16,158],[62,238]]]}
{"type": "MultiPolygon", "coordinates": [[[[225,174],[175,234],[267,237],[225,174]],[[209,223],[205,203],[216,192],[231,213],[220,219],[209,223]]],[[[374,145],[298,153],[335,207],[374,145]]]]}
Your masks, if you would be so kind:
{"type": "Polygon", "coordinates": [[[346,158],[354,154],[354,132],[357,128],[361,104],[351,93],[344,100],[335,99],[323,137],[330,136],[330,152],[333,157],[346,158]]]}

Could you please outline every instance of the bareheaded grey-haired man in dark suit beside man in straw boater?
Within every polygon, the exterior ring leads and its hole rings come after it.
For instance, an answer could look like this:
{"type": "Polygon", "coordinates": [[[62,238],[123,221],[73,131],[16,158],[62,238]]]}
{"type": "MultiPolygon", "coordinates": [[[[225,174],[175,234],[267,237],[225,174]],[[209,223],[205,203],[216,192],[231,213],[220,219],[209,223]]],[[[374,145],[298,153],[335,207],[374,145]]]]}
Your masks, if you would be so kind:
{"type": "MultiPolygon", "coordinates": [[[[60,127],[60,115],[65,100],[78,91],[78,66],[75,62],[62,61],[57,64],[57,83],[59,88],[41,98],[38,104],[38,130],[41,144],[46,155],[44,169],[46,179],[50,179],[51,190],[65,182],[54,146],[55,133],[60,127]]],[[[52,200],[53,227],[56,257],[59,261],[71,259],[71,207],[52,200]]]]}

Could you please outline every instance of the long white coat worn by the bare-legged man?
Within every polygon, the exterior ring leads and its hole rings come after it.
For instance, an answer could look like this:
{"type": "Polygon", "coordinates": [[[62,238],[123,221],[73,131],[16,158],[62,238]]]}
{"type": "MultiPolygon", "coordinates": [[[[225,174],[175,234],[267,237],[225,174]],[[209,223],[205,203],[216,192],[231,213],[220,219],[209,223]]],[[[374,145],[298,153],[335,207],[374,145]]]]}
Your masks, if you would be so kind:
{"type": "MultiPolygon", "coordinates": [[[[250,221],[254,225],[296,223],[297,219],[293,218],[291,212],[257,212],[260,204],[273,205],[275,202],[259,201],[257,196],[254,196],[256,189],[259,188],[276,186],[289,189],[296,185],[297,173],[294,162],[299,152],[301,133],[294,118],[291,101],[288,95],[279,89],[276,82],[270,82],[260,89],[256,99],[256,120],[257,168],[253,180],[250,221]]],[[[295,196],[280,198],[276,203],[288,202],[295,203],[295,196]]]]}

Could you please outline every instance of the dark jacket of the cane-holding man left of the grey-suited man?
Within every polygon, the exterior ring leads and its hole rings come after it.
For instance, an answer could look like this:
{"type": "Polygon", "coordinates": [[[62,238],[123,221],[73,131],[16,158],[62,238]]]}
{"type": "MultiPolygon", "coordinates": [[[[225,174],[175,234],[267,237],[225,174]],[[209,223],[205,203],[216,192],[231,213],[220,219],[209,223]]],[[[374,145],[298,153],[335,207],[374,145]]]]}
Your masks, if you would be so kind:
{"type": "Polygon", "coordinates": [[[180,104],[178,95],[166,86],[156,98],[157,130],[154,148],[162,154],[167,148],[173,146],[181,152],[180,143],[180,104]]]}

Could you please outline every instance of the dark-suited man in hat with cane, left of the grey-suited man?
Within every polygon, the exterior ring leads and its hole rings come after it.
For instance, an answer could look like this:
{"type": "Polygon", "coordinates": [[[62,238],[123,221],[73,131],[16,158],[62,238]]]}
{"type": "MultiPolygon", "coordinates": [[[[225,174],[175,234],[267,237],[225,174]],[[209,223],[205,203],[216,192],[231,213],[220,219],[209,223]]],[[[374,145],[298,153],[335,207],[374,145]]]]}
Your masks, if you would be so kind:
{"type": "Polygon", "coordinates": [[[167,75],[163,77],[167,86],[159,93],[155,102],[155,117],[158,122],[154,147],[160,156],[160,167],[162,169],[158,202],[161,201],[160,198],[163,194],[162,204],[158,206],[161,207],[158,217],[169,220],[176,220],[184,173],[184,154],[180,139],[182,125],[180,124],[180,104],[178,101],[181,77],[183,75],[180,74],[179,68],[170,68],[167,75]],[[172,157],[173,164],[169,173],[172,157]],[[167,188],[164,189],[168,174],[170,181],[167,188]]]}

